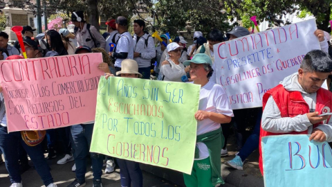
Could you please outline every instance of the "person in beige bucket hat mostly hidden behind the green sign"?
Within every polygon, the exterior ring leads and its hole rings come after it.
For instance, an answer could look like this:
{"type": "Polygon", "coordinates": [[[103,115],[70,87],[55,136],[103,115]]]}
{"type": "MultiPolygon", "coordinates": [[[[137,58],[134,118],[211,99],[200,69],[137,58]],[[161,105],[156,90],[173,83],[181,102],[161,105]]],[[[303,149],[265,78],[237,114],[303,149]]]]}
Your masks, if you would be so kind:
{"type": "MultiPolygon", "coordinates": [[[[138,72],[138,63],[131,59],[122,60],[122,69],[116,75],[122,78],[142,78],[142,74],[138,72]]],[[[113,74],[106,73],[105,78],[109,76],[113,74]]],[[[143,175],[138,162],[118,158],[116,161],[120,167],[121,186],[131,186],[131,183],[135,187],[143,186],[143,175]]]]}

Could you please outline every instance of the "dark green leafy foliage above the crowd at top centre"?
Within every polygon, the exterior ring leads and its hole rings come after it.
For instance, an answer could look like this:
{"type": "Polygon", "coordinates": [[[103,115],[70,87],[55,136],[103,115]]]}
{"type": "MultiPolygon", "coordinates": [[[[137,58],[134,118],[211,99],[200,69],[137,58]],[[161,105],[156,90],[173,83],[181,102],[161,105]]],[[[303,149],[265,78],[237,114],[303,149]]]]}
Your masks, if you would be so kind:
{"type": "Polygon", "coordinates": [[[162,33],[176,35],[185,30],[186,22],[191,22],[192,30],[201,30],[207,34],[212,28],[229,30],[227,16],[223,15],[221,1],[160,0],[156,3],[156,28],[162,33]]]}

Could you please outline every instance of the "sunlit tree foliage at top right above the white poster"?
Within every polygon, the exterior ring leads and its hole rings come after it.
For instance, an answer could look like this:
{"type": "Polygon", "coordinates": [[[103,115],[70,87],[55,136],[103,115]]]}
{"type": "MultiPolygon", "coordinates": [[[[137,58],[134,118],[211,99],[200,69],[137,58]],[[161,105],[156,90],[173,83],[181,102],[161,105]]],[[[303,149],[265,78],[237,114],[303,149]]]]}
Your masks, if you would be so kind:
{"type": "MultiPolygon", "coordinates": [[[[268,21],[270,26],[289,24],[282,17],[296,10],[310,12],[317,19],[317,27],[326,30],[329,26],[332,0],[226,0],[224,8],[230,19],[242,20],[243,25],[251,25],[249,18],[257,16],[257,21],[268,21]]],[[[303,16],[303,15],[302,15],[303,16]]]]}

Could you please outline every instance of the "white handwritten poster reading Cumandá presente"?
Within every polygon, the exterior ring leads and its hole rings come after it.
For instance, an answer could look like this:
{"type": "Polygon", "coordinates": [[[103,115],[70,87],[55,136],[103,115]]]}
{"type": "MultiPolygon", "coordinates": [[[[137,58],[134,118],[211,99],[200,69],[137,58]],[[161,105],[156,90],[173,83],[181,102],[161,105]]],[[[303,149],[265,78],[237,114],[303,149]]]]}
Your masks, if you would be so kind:
{"type": "Polygon", "coordinates": [[[263,95],[297,72],[304,55],[320,49],[315,19],[214,45],[216,82],[232,109],[261,107],[263,95]]]}

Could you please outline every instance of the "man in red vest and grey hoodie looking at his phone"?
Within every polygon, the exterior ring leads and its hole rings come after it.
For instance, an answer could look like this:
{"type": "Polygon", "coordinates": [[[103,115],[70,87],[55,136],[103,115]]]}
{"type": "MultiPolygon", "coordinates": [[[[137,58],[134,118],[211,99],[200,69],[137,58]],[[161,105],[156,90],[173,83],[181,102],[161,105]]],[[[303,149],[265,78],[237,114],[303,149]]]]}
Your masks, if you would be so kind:
{"type": "Polygon", "coordinates": [[[259,168],[263,175],[261,138],[281,134],[311,134],[309,140],[332,141],[332,93],[321,88],[331,74],[328,53],[313,50],[304,56],[299,71],[284,78],[263,97],[259,136],[259,168]]]}

